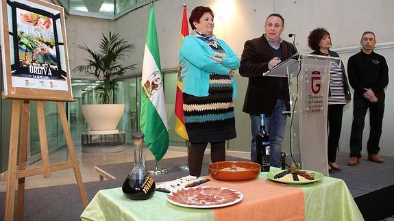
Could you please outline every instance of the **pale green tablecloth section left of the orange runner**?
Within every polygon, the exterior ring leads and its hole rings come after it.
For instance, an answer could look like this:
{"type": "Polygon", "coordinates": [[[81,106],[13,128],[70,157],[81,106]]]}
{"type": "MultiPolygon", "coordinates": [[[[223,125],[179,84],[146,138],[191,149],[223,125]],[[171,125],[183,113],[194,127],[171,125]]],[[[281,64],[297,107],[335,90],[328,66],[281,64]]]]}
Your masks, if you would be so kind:
{"type": "Polygon", "coordinates": [[[178,207],[158,192],[147,200],[129,200],[122,188],[100,190],[81,215],[82,220],[214,220],[212,209],[178,207]]]}

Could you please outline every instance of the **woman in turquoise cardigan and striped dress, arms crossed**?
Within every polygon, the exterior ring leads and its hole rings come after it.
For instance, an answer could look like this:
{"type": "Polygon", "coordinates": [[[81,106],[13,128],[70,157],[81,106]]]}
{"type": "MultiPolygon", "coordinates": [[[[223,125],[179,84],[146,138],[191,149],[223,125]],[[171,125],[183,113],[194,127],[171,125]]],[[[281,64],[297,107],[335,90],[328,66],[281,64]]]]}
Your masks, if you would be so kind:
{"type": "Polygon", "coordinates": [[[199,177],[208,143],[211,161],[225,161],[225,141],[236,138],[234,70],[239,59],[223,40],[213,34],[214,14],[198,6],[190,15],[193,29],[182,41],[180,66],[184,119],[190,142],[190,175],[199,177]]]}

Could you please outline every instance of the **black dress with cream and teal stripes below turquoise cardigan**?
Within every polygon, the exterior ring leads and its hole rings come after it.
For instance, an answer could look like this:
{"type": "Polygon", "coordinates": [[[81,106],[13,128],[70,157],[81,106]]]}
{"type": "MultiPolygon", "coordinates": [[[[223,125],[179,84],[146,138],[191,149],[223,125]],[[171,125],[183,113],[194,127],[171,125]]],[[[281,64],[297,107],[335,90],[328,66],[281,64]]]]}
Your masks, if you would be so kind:
{"type": "Polygon", "coordinates": [[[236,138],[231,79],[211,74],[209,84],[208,96],[183,93],[185,126],[192,143],[236,138]]]}

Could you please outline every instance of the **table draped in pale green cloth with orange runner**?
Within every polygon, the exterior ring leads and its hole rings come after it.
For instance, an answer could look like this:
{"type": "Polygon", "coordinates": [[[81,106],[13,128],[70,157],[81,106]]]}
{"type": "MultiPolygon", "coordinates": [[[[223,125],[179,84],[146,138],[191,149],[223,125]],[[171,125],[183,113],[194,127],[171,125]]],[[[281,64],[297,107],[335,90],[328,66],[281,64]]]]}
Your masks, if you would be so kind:
{"type": "MultiPolygon", "coordinates": [[[[82,213],[82,220],[363,220],[345,182],[324,177],[316,183],[286,185],[258,179],[208,186],[229,187],[243,193],[241,203],[217,209],[178,207],[167,194],[148,200],[128,200],[121,188],[100,190],[82,213]]],[[[208,177],[209,178],[209,177],[208,177]]]]}

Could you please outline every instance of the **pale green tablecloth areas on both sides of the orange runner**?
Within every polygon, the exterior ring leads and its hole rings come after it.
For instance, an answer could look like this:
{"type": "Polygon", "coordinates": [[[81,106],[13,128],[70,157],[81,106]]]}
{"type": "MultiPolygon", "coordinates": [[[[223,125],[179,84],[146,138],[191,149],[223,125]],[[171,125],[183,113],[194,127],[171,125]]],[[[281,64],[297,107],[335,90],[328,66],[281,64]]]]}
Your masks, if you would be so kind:
{"type": "MultiPolygon", "coordinates": [[[[258,179],[265,179],[262,172],[258,179]]],[[[209,185],[209,182],[206,183],[209,185]]],[[[284,184],[285,185],[285,184],[284,184]]],[[[345,182],[324,177],[316,183],[292,185],[304,192],[305,220],[363,220],[345,182]]],[[[286,205],[284,207],[291,207],[286,205]]],[[[81,215],[82,220],[215,220],[214,209],[172,205],[167,194],[156,192],[148,200],[128,200],[121,188],[100,190],[81,215]]],[[[289,218],[291,219],[291,218],[289,218]]]]}

